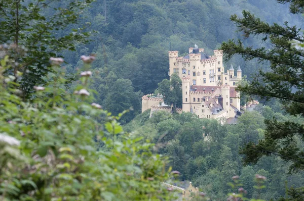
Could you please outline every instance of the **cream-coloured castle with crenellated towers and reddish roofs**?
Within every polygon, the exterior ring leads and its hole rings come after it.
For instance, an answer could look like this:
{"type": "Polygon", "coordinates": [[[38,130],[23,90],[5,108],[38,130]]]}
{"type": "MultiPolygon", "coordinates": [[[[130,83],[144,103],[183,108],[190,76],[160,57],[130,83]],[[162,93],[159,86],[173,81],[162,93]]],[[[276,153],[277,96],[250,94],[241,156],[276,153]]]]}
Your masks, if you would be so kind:
{"type": "MultiPolygon", "coordinates": [[[[178,57],[178,51],[169,52],[169,75],[177,73],[182,80],[182,109],[178,113],[191,112],[199,118],[225,120],[233,123],[240,116],[240,92],[236,84],[242,79],[242,70],[238,66],[237,74],[231,65],[224,72],[223,53],[214,50],[213,56],[204,53],[203,48],[189,48],[189,54],[178,57]]],[[[142,112],[151,109],[171,111],[163,103],[161,95],[142,97],[142,112]]]]}

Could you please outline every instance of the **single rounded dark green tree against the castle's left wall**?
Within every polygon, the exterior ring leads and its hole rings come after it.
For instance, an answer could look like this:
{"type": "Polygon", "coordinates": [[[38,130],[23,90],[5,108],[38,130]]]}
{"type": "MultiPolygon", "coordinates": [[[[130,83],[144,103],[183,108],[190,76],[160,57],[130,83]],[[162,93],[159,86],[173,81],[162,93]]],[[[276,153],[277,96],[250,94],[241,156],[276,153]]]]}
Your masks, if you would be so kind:
{"type": "Polygon", "coordinates": [[[164,79],[158,84],[158,91],[164,96],[165,104],[173,105],[173,110],[176,112],[176,107],[181,107],[182,90],[181,79],[177,74],[171,75],[171,79],[164,79]]]}

